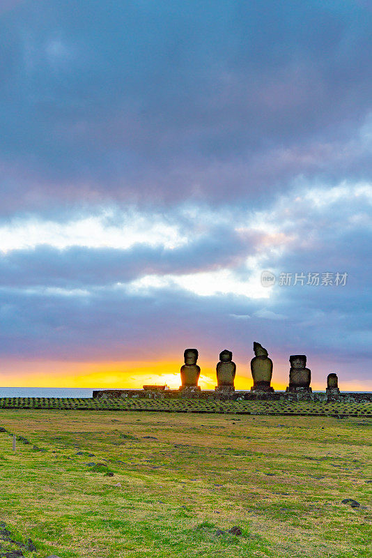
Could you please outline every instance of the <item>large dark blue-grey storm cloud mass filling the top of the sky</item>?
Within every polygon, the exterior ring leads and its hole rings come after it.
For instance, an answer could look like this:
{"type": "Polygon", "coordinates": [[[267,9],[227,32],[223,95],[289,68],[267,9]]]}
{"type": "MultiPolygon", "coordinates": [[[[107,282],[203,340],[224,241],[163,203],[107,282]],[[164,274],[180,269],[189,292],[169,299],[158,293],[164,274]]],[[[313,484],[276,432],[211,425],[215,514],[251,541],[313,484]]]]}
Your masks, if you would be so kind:
{"type": "MultiPolygon", "coordinates": [[[[0,23],[3,211],[335,181],[332,143],[371,110],[360,4],[29,0],[0,23]]],[[[370,174],[343,158],[343,178],[370,174]]]]}

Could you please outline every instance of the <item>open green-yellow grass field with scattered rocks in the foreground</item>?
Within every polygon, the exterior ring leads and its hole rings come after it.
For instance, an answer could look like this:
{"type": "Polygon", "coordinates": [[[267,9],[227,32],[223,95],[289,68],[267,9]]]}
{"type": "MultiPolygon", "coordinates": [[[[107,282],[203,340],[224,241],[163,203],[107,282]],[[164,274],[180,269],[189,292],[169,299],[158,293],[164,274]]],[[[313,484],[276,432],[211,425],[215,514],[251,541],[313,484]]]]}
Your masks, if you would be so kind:
{"type": "Polygon", "coordinates": [[[371,418],[2,409],[0,425],[0,521],[25,557],[371,557],[371,418]]]}

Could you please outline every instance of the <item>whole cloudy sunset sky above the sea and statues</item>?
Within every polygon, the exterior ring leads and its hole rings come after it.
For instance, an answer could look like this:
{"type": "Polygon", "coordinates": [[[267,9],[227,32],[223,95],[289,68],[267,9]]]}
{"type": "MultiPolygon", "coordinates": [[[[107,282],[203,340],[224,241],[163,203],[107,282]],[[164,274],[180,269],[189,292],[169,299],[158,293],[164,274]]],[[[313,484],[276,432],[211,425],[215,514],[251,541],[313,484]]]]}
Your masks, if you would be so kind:
{"type": "Polygon", "coordinates": [[[372,391],[371,6],[0,0],[1,386],[372,391]]]}

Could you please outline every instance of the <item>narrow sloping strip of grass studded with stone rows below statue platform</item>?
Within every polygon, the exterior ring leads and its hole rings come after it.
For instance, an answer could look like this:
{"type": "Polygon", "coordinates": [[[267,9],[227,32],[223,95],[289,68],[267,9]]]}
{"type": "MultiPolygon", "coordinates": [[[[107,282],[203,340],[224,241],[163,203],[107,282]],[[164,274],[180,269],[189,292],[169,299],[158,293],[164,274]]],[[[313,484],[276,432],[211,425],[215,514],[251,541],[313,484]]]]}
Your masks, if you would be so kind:
{"type": "Polygon", "coordinates": [[[75,409],[177,413],[280,414],[372,417],[372,401],[219,401],[199,398],[0,398],[0,409],[75,409]]]}

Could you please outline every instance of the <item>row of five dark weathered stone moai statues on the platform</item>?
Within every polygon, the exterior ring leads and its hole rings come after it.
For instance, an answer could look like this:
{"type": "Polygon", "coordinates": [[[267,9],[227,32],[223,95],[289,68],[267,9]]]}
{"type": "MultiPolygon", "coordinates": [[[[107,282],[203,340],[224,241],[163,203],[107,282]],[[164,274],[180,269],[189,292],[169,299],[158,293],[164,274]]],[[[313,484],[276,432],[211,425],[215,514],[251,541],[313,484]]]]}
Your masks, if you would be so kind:
{"type": "MultiPolygon", "coordinates": [[[[269,359],[268,351],[257,343],[253,344],[254,358],[251,360],[251,374],[253,377],[253,386],[251,391],[273,392],[271,386],[272,379],[272,360],[269,359]]],[[[196,364],[199,352],[197,349],[186,349],[184,353],[185,364],[181,368],[180,389],[188,389],[189,391],[199,390],[198,382],[200,376],[200,367],[196,364]]],[[[304,354],[293,354],[289,357],[289,385],[286,389],[287,393],[294,392],[311,392],[311,370],[306,368],[306,356],[304,354]]],[[[216,367],[217,371],[217,387],[216,391],[235,391],[234,379],[236,373],[236,365],[233,362],[233,353],[224,349],[219,353],[219,363],[216,367]]],[[[339,385],[337,375],[332,372],[327,377],[327,393],[335,395],[339,393],[339,385]]]]}

